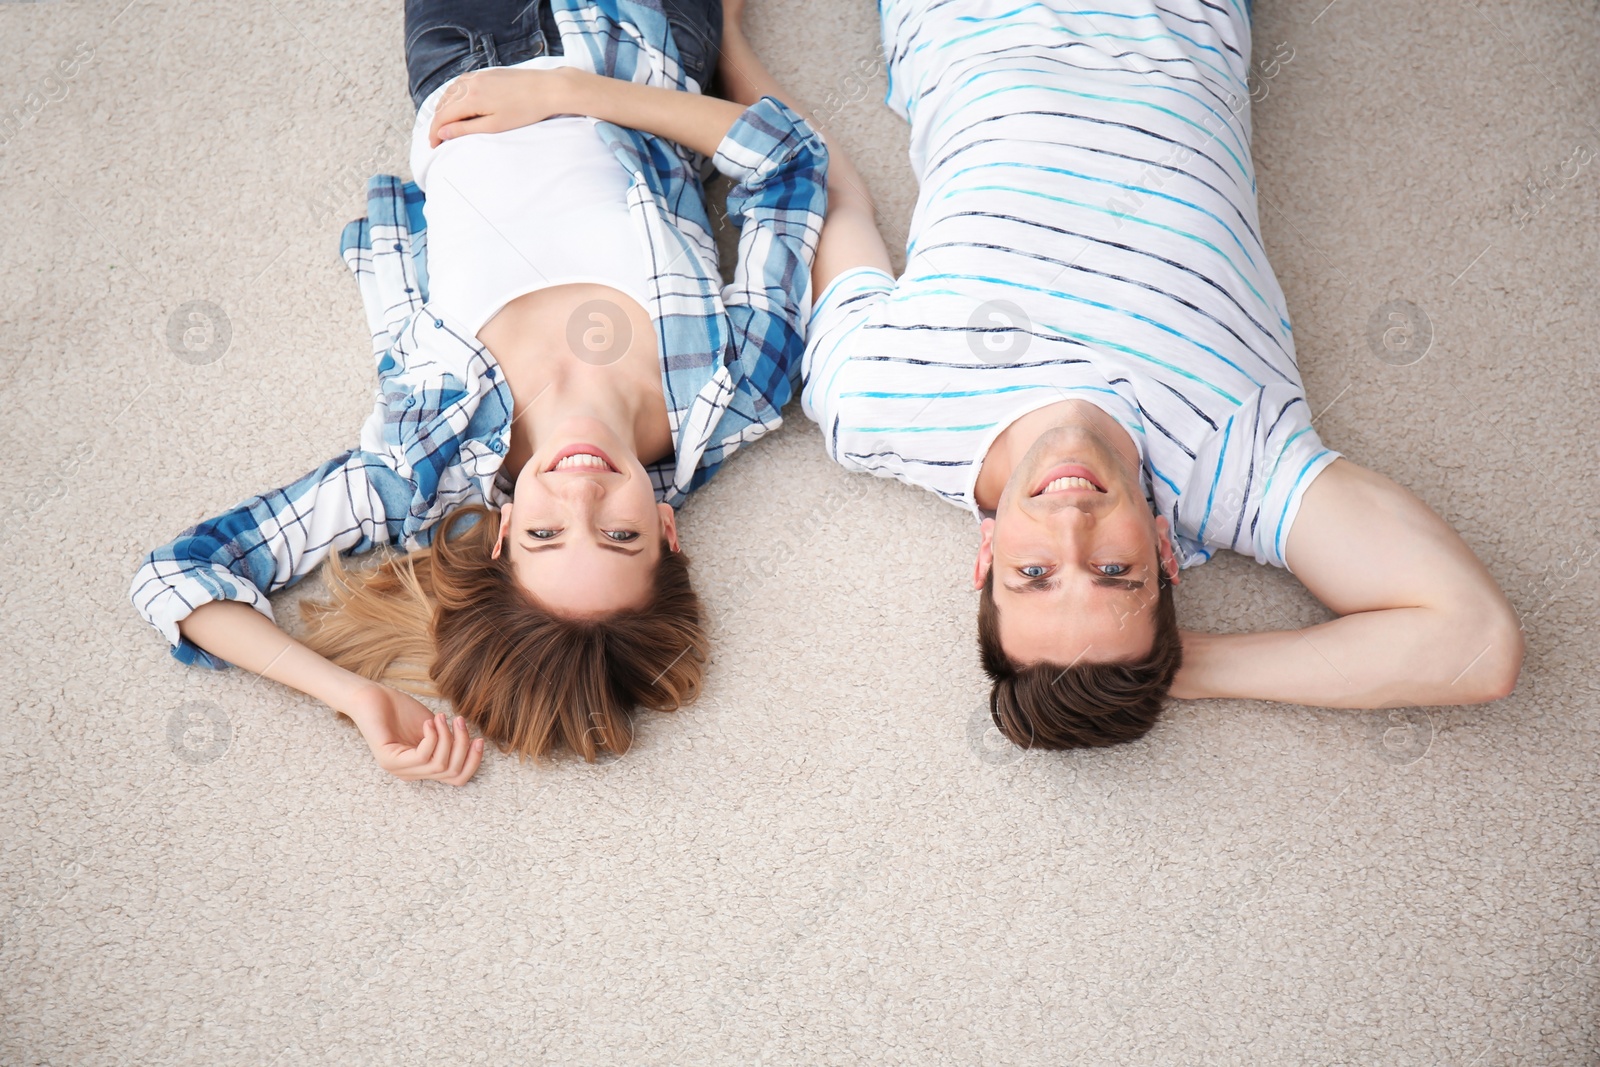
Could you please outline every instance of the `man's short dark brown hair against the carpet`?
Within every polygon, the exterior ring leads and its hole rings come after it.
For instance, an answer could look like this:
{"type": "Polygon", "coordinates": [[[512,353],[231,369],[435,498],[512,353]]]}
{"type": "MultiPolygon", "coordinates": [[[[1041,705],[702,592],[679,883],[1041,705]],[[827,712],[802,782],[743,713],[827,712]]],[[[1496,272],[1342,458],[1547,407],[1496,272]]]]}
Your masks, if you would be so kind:
{"type": "Polygon", "coordinates": [[[1147,734],[1184,661],[1173,584],[1165,573],[1155,584],[1155,637],[1144,657],[1022,665],[1000,646],[995,573],[989,568],[978,601],[978,649],[994,680],[989,713],[1000,733],[1024,749],[1104,747],[1147,734]]]}

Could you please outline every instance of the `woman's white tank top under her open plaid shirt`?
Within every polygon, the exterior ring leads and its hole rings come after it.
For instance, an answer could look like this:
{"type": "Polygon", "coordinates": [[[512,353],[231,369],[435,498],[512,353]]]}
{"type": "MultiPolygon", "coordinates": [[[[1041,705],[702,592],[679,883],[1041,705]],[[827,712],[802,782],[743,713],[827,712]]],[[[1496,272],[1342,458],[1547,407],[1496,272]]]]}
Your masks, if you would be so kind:
{"type": "MultiPolygon", "coordinates": [[[[570,66],[539,56],[517,67],[570,66]]],[[[560,117],[427,144],[434,90],[411,130],[411,174],[427,195],[429,304],[474,336],[506,304],[552,285],[597,282],[650,309],[629,174],[594,118],[560,117]]]]}

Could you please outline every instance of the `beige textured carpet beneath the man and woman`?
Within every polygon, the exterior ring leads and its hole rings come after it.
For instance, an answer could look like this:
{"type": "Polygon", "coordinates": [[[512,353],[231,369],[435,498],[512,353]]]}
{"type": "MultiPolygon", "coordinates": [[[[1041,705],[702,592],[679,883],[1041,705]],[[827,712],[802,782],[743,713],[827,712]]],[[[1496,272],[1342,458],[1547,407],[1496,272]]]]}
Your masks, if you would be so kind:
{"type": "MultiPolygon", "coordinates": [[[[1267,245],[1325,440],[1525,614],[1510,699],[994,747],[970,520],[795,410],[683,512],[704,699],[462,790],[181,669],[125,597],[354,440],[336,248],[403,166],[400,5],[0,3],[0,1061],[1594,1064],[1600,13],[1325,3],[1258,0],[1267,245]],[[168,342],[190,301],[227,317],[213,362],[168,342]],[[1414,365],[1368,339],[1389,301],[1414,365]]],[[[899,245],[872,6],[752,6],[899,245]]],[[[1240,558],[1179,609],[1320,614],[1240,558]]]]}

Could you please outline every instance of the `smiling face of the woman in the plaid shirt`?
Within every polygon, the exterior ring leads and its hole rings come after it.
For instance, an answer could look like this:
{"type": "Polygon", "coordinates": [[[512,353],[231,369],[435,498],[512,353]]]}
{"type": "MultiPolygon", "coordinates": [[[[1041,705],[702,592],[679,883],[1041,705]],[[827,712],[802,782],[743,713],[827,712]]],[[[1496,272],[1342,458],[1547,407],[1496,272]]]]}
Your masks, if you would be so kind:
{"type": "Polygon", "coordinates": [[[661,542],[678,550],[638,458],[597,421],[541,442],[501,509],[501,552],[549,611],[605,616],[650,603],[661,542]]]}

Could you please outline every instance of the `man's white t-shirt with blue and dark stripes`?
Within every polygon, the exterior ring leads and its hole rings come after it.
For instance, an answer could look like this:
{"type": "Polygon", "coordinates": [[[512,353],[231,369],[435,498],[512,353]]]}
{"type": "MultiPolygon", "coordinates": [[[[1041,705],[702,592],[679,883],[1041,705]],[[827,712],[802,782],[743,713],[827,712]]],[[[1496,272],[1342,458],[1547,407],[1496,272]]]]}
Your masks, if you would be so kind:
{"type": "Polygon", "coordinates": [[[835,461],[976,512],[995,437],[1088,400],[1184,565],[1283,566],[1336,454],[1261,246],[1243,2],[883,2],[922,192],[906,272],[850,270],[811,315],[803,403],[835,461]]]}

